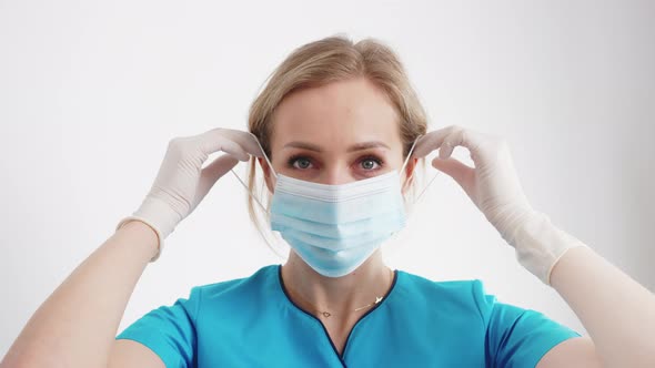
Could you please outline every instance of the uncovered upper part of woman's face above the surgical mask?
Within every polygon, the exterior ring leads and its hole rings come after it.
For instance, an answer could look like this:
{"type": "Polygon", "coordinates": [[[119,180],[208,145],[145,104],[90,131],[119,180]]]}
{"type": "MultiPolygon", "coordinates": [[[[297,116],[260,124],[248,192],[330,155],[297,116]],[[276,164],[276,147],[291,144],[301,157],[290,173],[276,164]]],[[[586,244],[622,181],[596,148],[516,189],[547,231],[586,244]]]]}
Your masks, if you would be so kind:
{"type": "MultiPolygon", "coordinates": [[[[273,115],[273,168],[321,184],[344,184],[400,170],[399,120],[384,92],[364,78],[294,92],[273,115]]],[[[407,163],[404,177],[415,162],[407,163]]],[[[265,161],[260,163],[273,192],[274,177],[265,161]]]]}

